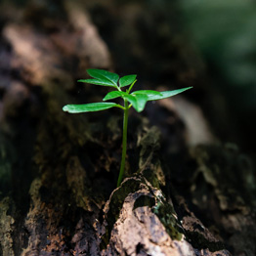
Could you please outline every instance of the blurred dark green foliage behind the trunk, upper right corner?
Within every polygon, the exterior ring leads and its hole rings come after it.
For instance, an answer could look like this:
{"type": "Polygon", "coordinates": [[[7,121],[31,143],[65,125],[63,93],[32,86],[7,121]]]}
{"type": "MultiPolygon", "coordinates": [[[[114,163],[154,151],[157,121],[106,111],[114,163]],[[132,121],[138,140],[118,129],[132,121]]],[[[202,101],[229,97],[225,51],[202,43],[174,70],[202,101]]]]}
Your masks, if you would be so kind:
{"type": "Polygon", "coordinates": [[[256,110],[255,1],[182,0],[181,7],[194,45],[227,82],[219,86],[230,103],[256,110]]]}

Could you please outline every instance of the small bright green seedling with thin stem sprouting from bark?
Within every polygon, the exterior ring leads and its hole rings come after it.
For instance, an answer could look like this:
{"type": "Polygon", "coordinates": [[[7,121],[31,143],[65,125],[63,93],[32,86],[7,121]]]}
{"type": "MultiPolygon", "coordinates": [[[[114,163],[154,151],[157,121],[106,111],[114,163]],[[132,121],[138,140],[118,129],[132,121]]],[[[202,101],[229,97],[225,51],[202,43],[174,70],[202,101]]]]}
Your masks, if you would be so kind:
{"type": "Polygon", "coordinates": [[[111,107],[119,107],[123,109],[123,141],[122,141],[122,159],[120,165],[120,172],[117,181],[117,187],[120,185],[124,173],[125,166],[125,156],[127,148],[127,126],[128,126],[128,110],[130,107],[134,107],[136,111],[141,112],[145,108],[147,102],[157,101],[165,98],[172,97],[174,95],[180,94],[186,90],[191,89],[192,87],[187,87],[179,90],[157,92],[152,90],[139,90],[132,91],[132,88],[135,84],[136,74],[125,75],[119,78],[119,75],[116,73],[108,72],[107,70],[102,69],[87,69],[88,74],[92,77],[91,79],[81,79],[78,82],[90,83],[102,86],[108,86],[115,89],[107,93],[103,99],[103,103],[93,103],[93,104],[84,104],[84,105],[66,105],[64,106],[64,111],[69,113],[81,113],[81,112],[94,112],[105,110],[111,107]],[[128,87],[125,91],[122,91],[124,87],[128,87]],[[106,101],[113,100],[116,98],[122,98],[123,106],[116,103],[109,103],[106,101]]]}

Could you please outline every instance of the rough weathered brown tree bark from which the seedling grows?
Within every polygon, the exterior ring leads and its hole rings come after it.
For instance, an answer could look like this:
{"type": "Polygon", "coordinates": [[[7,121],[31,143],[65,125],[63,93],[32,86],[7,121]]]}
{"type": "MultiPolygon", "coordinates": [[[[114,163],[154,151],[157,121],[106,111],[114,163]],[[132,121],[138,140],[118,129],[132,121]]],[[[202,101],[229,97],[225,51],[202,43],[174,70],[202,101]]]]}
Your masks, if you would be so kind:
{"type": "MultiPolygon", "coordinates": [[[[113,1],[98,2],[113,12],[113,1]]],[[[214,138],[194,104],[165,100],[149,106],[149,119],[132,112],[117,189],[119,109],[63,112],[107,93],[75,85],[86,68],[113,70],[86,6],[1,9],[0,255],[255,255],[255,172],[234,145],[194,146],[214,138]]],[[[137,4],[124,8],[136,11],[125,27],[144,16],[137,4]]],[[[184,86],[176,71],[173,81],[184,86]]]]}

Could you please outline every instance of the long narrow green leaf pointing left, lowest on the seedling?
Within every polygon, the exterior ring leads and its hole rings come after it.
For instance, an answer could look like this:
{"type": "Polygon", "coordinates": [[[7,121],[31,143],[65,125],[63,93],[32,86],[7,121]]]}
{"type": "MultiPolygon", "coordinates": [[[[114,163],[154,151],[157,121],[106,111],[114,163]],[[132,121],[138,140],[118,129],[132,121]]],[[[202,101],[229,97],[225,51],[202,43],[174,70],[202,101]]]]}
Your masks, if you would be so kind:
{"type": "Polygon", "coordinates": [[[115,103],[93,103],[93,104],[83,104],[83,105],[66,105],[63,107],[64,111],[69,113],[82,113],[82,112],[94,112],[105,110],[110,107],[121,107],[115,103]]]}

